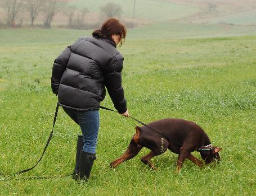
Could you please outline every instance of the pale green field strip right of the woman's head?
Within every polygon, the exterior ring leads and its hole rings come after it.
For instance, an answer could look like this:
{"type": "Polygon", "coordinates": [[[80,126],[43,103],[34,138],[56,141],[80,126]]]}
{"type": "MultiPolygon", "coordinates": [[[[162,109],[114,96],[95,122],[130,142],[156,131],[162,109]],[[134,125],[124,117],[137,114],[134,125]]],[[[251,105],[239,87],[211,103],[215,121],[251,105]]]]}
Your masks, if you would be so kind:
{"type": "Polygon", "coordinates": [[[128,31],[128,37],[147,38],[212,38],[255,35],[256,26],[199,25],[176,22],[159,22],[128,31]]]}

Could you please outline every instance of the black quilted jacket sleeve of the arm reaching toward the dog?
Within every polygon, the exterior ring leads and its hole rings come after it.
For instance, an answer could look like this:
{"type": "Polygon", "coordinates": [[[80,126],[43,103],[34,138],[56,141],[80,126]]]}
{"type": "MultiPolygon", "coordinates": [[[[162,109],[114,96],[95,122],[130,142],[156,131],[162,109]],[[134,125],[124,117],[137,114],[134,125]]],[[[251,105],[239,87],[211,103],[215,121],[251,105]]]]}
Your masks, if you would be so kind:
{"type": "Polygon", "coordinates": [[[105,68],[104,81],[109,92],[110,98],[118,110],[118,113],[122,114],[127,111],[126,100],[124,97],[124,90],[122,87],[122,69],[123,69],[123,57],[122,54],[116,55],[105,68]]]}

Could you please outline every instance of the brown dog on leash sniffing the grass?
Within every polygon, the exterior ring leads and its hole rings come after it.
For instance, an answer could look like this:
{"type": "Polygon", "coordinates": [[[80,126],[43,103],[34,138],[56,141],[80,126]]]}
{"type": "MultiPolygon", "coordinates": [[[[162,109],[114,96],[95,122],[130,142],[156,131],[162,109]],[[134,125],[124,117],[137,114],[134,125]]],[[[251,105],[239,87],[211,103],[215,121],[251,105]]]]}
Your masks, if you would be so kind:
{"type": "Polygon", "coordinates": [[[199,151],[205,164],[214,160],[219,161],[219,151],[221,148],[212,146],[210,139],[199,125],[183,119],[162,119],[147,124],[147,126],[135,127],[136,134],[128,146],[127,151],[115,161],[111,162],[110,167],[115,168],[124,161],[127,161],[140,152],[142,147],[151,150],[141,161],[154,170],[158,170],[150,159],[161,155],[167,148],[177,153],[177,172],[181,170],[185,158],[194,162],[196,165],[203,166],[203,162],[191,155],[191,152],[199,151]]]}

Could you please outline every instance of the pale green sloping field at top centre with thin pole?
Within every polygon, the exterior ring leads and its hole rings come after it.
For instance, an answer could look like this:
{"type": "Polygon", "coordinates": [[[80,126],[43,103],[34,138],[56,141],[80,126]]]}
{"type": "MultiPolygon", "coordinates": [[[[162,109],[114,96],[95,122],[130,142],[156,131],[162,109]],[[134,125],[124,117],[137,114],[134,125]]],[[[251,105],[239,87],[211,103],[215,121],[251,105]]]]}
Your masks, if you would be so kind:
{"type": "MultiPolygon", "coordinates": [[[[100,12],[100,7],[104,6],[107,2],[113,1],[79,0],[73,2],[73,4],[77,5],[78,7],[87,7],[91,12],[100,12]]],[[[133,0],[117,0],[114,3],[118,3],[122,6],[122,16],[133,17],[133,2],[133,0]]],[[[186,4],[160,0],[140,0],[136,1],[135,17],[161,21],[190,16],[198,11],[199,8],[195,6],[188,6],[186,4]]]]}

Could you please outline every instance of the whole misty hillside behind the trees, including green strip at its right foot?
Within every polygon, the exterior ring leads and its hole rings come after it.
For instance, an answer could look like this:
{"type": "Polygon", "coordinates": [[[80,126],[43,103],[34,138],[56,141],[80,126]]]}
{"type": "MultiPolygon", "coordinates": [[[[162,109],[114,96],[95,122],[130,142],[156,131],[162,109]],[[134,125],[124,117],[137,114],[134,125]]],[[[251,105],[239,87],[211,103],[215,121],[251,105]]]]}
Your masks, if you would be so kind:
{"type": "MultiPolygon", "coordinates": [[[[98,28],[104,20],[100,7],[111,0],[76,0],[70,5],[88,8],[84,18],[87,28],[98,28]]],[[[120,19],[129,24],[128,28],[136,27],[128,36],[141,38],[143,35],[155,38],[191,38],[233,35],[255,35],[256,2],[252,0],[140,0],[136,1],[135,17],[133,18],[133,0],[116,0],[122,6],[120,19]],[[209,10],[209,4],[215,7],[209,10]],[[137,33],[139,32],[139,33],[137,33]],[[143,34],[141,35],[141,33],[143,34]]],[[[53,18],[52,27],[66,27],[68,16],[66,11],[57,13],[53,18]]],[[[0,8],[0,25],[5,23],[5,11],[0,8]]],[[[23,12],[16,23],[29,25],[29,15],[23,12]]],[[[35,25],[42,26],[44,15],[40,13],[35,25]]],[[[90,31],[91,32],[91,31],[90,31]]]]}

